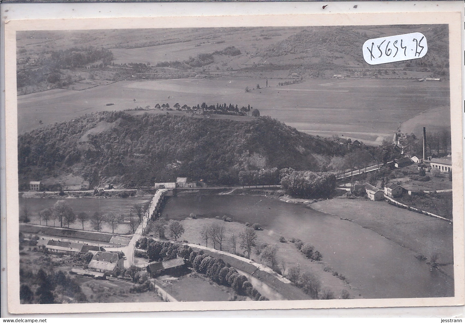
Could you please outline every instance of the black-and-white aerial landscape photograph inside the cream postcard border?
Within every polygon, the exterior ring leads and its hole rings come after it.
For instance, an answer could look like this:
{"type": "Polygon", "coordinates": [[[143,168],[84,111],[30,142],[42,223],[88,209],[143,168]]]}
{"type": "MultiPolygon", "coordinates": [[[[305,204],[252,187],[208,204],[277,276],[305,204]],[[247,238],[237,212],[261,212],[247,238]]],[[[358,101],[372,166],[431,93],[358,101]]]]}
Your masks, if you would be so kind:
{"type": "Polygon", "coordinates": [[[448,25],[17,31],[16,87],[20,304],[456,293],[448,25]]]}

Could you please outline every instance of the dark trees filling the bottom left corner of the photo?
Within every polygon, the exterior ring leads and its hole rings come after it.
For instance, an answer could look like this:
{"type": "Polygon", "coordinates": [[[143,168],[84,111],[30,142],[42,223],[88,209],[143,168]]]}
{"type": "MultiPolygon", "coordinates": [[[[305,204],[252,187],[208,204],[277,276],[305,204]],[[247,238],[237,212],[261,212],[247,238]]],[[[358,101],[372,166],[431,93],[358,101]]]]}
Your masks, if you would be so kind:
{"type": "Polygon", "coordinates": [[[61,270],[47,273],[20,268],[20,302],[22,304],[86,303],[78,283],[61,270]]]}

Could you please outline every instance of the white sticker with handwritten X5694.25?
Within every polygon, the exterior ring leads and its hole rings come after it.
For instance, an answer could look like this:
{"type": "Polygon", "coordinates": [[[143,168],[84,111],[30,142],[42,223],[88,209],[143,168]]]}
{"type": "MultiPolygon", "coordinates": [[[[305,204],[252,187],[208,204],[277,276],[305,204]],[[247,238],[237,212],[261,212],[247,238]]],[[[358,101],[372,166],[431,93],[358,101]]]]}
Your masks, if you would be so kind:
{"type": "Polygon", "coordinates": [[[422,33],[375,38],[363,44],[363,58],[370,65],[422,58],[427,52],[426,37],[422,33]]]}

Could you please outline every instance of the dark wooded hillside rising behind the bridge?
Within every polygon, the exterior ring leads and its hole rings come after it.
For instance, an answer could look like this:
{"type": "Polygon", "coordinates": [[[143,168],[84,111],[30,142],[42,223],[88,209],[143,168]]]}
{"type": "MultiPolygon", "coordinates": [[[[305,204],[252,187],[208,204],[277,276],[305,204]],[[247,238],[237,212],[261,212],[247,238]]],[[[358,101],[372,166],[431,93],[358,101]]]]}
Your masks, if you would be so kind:
{"type": "Polygon", "coordinates": [[[108,178],[131,187],[177,176],[232,185],[242,170],[318,170],[315,156],[343,149],[269,117],[238,122],[97,112],[21,135],[19,180],[20,189],[63,173],[82,176],[90,188],[108,178]]]}

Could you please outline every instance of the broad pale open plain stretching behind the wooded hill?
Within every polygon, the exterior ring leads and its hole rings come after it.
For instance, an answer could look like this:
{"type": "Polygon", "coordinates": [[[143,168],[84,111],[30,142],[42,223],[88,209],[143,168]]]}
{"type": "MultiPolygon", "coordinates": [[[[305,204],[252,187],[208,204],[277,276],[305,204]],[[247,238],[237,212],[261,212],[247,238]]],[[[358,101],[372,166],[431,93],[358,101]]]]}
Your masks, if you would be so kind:
{"type": "MultiPolygon", "coordinates": [[[[393,133],[399,122],[420,112],[449,104],[449,82],[406,79],[306,79],[300,84],[246,93],[245,87],[265,86],[265,78],[218,77],[120,81],[82,91],[51,90],[18,97],[18,132],[72,119],[87,112],[180,105],[233,103],[251,105],[299,131],[314,135],[347,135],[368,143],[393,133]],[[53,91],[53,92],[52,92],[53,91]],[[168,99],[168,97],[170,99],[168,99]],[[173,98],[172,98],[173,97],[173,98]],[[136,99],[134,101],[133,99],[136,99]],[[114,105],[106,106],[107,103],[114,105]],[[43,125],[39,125],[42,120],[43,125]]],[[[428,128],[435,119],[425,120],[428,128]]]]}

